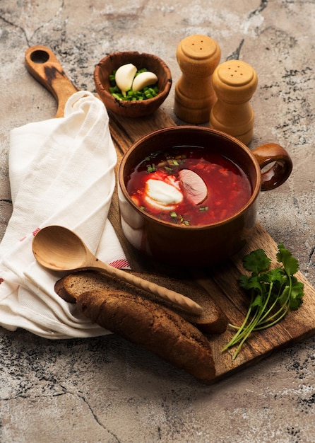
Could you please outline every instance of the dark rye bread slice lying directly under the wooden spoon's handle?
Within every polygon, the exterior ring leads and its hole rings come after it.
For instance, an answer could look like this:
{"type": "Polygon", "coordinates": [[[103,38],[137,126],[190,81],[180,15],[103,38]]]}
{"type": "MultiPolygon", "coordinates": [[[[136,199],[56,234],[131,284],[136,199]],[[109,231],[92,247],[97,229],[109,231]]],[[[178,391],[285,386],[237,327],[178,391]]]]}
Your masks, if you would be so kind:
{"type": "Polygon", "coordinates": [[[172,309],[172,311],[178,313],[182,318],[189,321],[189,323],[192,323],[203,333],[222,333],[227,328],[227,317],[225,316],[225,313],[223,313],[214,303],[213,299],[210,298],[206,289],[203,289],[199,284],[186,282],[177,278],[165,277],[164,275],[158,275],[151,272],[129,272],[191,298],[203,307],[203,313],[200,315],[188,313],[177,308],[177,306],[174,306],[171,302],[151,294],[150,292],[146,292],[143,289],[136,288],[132,284],[90,270],[74,272],[63,277],[61,280],[57,281],[55,291],[61,298],[72,303],[76,302],[78,296],[83,294],[83,292],[90,292],[97,289],[105,289],[108,292],[114,290],[128,294],[138,294],[138,296],[143,299],[148,299],[154,303],[165,306],[168,309],[172,309]]]}

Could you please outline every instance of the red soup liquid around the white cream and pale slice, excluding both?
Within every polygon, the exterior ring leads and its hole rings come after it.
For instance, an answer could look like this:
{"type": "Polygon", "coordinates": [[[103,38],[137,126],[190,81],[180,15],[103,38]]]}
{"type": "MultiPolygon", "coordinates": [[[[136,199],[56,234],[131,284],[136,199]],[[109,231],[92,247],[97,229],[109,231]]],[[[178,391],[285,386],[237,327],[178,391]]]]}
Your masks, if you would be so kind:
{"type": "Polygon", "coordinates": [[[218,153],[199,146],[174,146],[166,152],[157,151],[136,166],[127,183],[133,202],[157,219],[202,226],[231,217],[242,209],[251,197],[251,184],[237,164],[218,153]],[[198,205],[184,197],[176,208],[161,209],[145,201],[146,181],[158,178],[179,182],[179,171],[189,169],[200,176],[208,192],[198,205]]]}

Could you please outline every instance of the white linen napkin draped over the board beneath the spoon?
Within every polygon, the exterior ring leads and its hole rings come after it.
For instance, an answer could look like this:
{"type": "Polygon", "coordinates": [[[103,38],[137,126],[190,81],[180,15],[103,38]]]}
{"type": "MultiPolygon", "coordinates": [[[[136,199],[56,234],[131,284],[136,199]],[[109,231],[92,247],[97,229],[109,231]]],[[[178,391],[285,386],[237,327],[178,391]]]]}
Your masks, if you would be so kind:
{"type": "Polygon", "coordinates": [[[61,275],[32,254],[37,230],[58,224],[76,231],[100,260],[129,267],[107,219],[117,156],[105,106],[79,91],[64,117],[12,130],[9,149],[13,213],[0,243],[0,326],[46,338],[109,333],[57,296],[61,275]]]}

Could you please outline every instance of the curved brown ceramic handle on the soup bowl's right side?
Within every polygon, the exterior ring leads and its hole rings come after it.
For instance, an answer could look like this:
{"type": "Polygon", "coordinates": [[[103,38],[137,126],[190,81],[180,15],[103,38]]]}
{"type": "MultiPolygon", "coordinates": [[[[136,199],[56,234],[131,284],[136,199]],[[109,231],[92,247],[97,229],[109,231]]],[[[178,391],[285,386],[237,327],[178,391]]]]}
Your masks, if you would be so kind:
{"type": "Polygon", "coordinates": [[[292,159],[280,144],[266,143],[252,151],[261,167],[261,190],[268,191],[285,183],[292,171],[292,159]],[[270,165],[270,168],[266,166],[270,165]]]}

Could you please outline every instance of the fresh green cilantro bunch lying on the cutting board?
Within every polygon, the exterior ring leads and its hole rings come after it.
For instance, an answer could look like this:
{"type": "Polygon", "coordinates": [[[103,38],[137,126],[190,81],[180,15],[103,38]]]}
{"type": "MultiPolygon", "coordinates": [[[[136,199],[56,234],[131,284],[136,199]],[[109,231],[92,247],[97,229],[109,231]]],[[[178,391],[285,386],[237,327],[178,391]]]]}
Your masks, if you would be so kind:
{"type": "Polygon", "coordinates": [[[252,251],[243,258],[244,268],[251,275],[241,275],[239,286],[250,294],[251,303],[242,325],[230,325],[237,329],[237,333],[222,349],[223,352],[238,344],[233,359],[252,332],[270,328],[288,311],[296,311],[302,304],[304,284],[295,277],[299,270],[297,259],[292,257],[283,243],[279,243],[276,257],[282,266],[275,269],[269,269],[271,259],[263,249],[252,251]]]}

